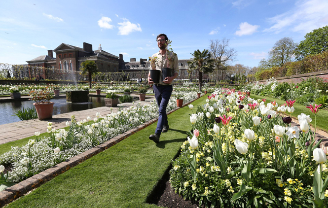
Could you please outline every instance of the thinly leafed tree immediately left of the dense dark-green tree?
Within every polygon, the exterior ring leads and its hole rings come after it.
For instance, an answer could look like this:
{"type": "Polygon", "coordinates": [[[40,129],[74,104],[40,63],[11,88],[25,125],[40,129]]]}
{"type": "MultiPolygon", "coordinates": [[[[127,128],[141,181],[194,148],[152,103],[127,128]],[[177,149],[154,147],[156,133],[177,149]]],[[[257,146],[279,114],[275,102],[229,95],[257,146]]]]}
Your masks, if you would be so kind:
{"type": "Polygon", "coordinates": [[[294,43],[291,37],[283,37],[278,40],[269,51],[267,60],[262,59],[259,68],[282,67],[286,62],[293,60],[293,54],[297,43],[294,43]]]}

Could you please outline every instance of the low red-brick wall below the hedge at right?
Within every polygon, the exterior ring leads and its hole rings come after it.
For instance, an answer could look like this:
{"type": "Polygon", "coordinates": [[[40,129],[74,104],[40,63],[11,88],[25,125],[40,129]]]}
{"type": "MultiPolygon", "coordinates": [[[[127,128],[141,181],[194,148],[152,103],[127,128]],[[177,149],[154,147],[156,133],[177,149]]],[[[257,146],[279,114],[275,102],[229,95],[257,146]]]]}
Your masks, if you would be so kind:
{"type": "MultiPolygon", "coordinates": [[[[275,78],[278,82],[287,82],[287,83],[300,83],[303,80],[308,79],[311,76],[320,77],[324,80],[324,82],[328,82],[328,70],[325,71],[318,71],[318,72],[311,72],[311,73],[304,73],[304,74],[298,74],[298,75],[292,75],[292,76],[284,76],[275,78]]],[[[260,80],[258,81],[259,84],[264,84],[268,80],[260,80]]]]}

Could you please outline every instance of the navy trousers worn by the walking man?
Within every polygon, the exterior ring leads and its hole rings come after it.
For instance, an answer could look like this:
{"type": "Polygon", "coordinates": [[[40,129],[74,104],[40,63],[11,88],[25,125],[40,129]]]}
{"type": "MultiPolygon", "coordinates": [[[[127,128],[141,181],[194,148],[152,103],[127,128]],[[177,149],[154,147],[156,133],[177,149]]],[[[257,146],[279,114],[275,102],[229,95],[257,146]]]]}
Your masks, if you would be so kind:
{"type": "Polygon", "coordinates": [[[173,86],[172,85],[153,85],[152,89],[154,90],[155,93],[155,99],[157,101],[158,105],[158,122],[157,122],[157,127],[155,130],[155,133],[158,135],[161,135],[163,126],[168,125],[167,122],[167,115],[166,115],[166,107],[167,104],[169,103],[172,91],[173,91],[173,86]]]}

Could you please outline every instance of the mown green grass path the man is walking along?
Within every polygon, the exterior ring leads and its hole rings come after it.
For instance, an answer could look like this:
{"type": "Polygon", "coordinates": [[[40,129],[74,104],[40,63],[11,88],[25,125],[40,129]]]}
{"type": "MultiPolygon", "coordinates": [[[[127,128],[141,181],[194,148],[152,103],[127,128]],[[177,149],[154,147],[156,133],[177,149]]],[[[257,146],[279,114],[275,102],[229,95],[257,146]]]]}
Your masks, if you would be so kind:
{"type": "MultiPolygon", "coordinates": [[[[203,104],[206,96],[192,104],[203,104]]],[[[194,110],[195,112],[195,110],[194,110]]],[[[170,130],[148,139],[157,122],[58,175],[6,208],[158,208],[146,203],[190,130],[185,106],[168,115],[170,130]]]]}

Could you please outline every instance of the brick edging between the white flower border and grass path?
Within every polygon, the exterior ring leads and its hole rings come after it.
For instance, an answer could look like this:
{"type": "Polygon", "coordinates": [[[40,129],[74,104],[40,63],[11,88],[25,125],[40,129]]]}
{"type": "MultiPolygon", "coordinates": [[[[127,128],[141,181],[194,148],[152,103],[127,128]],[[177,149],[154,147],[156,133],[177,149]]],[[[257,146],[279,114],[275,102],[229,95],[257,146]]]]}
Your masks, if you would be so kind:
{"type": "MultiPolygon", "coordinates": [[[[194,102],[197,99],[198,98],[182,105],[182,107],[194,102]]],[[[172,112],[178,110],[179,108],[180,107],[174,108],[174,109],[168,111],[167,114],[171,114],[172,112]]],[[[129,131],[124,132],[123,134],[120,134],[112,139],[109,139],[108,141],[105,141],[102,144],[99,144],[99,145],[97,145],[81,154],[78,154],[62,163],[59,163],[41,173],[33,175],[32,177],[29,177],[26,180],[23,180],[3,191],[0,191],[0,208],[2,208],[3,206],[5,206],[6,204],[8,204],[10,202],[13,202],[14,200],[18,199],[19,197],[23,196],[24,194],[28,193],[29,191],[39,187],[43,183],[53,179],[57,175],[70,170],[74,166],[82,163],[83,161],[91,158],[92,156],[97,155],[98,153],[117,144],[121,140],[126,139],[129,136],[133,135],[134,133],[155,123],[157,120],[158,120],[158,118],[151,119],[150,121],[147,121],[142,125],[132,128],[129,131]]]]}

